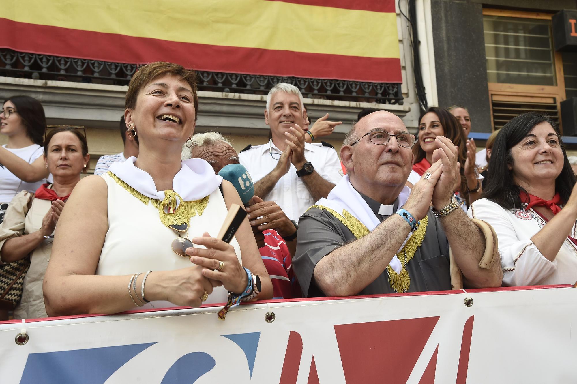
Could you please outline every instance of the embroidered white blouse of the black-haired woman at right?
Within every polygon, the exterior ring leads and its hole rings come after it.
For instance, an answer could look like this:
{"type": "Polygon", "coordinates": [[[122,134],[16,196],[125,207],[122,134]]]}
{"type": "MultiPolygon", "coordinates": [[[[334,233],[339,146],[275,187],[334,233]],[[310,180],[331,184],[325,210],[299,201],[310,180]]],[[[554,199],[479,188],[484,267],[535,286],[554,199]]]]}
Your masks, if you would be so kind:
{"type": "MultiPolygon", "coordinates": [[[[546,224],[533,209],[509,210],[488,199],[478,199],[467,213],[493,226],[499,240],[504,286],[575,284],[577,281],[577,247],[571,240],[565,240],[553,261],[546,259],[531,242],[531,237],[546,224]]],[[[577,236],[576,224],[571,229],[573,238],[577,236]]]]}

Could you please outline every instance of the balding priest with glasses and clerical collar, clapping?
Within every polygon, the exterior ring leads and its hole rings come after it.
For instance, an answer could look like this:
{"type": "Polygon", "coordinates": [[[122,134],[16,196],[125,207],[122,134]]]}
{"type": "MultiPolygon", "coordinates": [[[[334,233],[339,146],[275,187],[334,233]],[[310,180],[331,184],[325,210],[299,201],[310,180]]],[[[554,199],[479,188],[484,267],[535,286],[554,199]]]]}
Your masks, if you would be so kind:
{"type": "Polygon", "coordinates": [[[457,149],[437,136],[433,165],[411,190],[405,183],[414,143],[386,111],[365,116],[347,133],[340,150],[347,175],[299,221],[293,268],[304,296],[451,289],[449,244],[464,285],[501,285],[492,228],[470,219],[452,198],[457,149]]]}

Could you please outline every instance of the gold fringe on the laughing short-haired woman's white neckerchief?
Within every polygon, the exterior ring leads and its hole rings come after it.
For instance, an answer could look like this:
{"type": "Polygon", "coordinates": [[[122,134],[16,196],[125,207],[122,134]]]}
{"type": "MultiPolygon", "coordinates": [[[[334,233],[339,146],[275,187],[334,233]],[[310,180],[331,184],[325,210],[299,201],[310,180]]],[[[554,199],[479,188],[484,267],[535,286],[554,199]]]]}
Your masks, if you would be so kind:
{"type": "Polygon", "coordinates": [[[164,200],[160,201],[159,199],[151,199],[148,196],[141,194],[136,189],[126,184],[123,180],[119,179],[118,176],[112,172],[108,171],[107,173],[119,186],[142,201],[145,205],[148,205],[148,202],[151,202],[152,205],[158,209],[160,221],[166,227],[168,227],[168,225],[188,224],[190,217],[196,216],[197,214],[198,216],[202,216],[204,209],[207,208],[208,198],[210,197],[209,195],[194,201],[183,201],[178,193],[169,189],[164,191],[164,200]],[[181,202],[178,206],[177,198],[181,202]],[[168,212],[164,211],[165,207],[168,212]]]}

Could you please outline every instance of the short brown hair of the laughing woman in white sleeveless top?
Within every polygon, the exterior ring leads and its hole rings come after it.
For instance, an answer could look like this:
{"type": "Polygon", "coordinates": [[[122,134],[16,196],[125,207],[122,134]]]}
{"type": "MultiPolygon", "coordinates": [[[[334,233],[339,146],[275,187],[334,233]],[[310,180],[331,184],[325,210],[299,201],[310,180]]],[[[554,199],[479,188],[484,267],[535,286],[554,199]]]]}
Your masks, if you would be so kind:
{"type": "Polygon", "coordinates": [[[193,103],[194,103],[194,121],[198,118],[198,95],[197,95],[197,85],[196,85],[196,72],[192,69],[186,69],[182,65],[167,63],[163,61],[157,61],[147,65],[138,67],[136,73],[132,79],[130,79],[130,84],[128,85],[128,91],[126,91],[126,99],[124,101],[124,107],[133,109],[136,107],[136,99],[138,97],[138,92],[147,85],[152,80],[156,78],[165,76],[167,74],[173,74],[175,76],[181,77],[182,80],[188,82],[190,88],[192,89],[193,103]]]}

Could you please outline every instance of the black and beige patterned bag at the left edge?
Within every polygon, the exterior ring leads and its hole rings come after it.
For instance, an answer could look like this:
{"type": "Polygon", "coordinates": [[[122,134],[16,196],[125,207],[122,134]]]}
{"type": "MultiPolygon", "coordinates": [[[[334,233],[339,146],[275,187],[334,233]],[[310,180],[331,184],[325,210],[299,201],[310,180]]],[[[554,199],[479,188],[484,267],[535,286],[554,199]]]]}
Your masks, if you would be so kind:
{"type": "Polygon", "coordinates": [[[29,267],[29,257],[0,265],[0,310],[11,311],[20,302],[29,267]]]}

